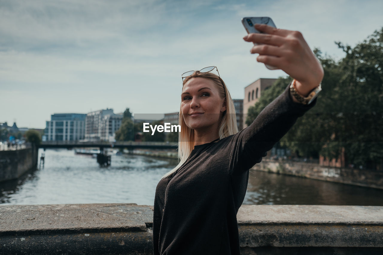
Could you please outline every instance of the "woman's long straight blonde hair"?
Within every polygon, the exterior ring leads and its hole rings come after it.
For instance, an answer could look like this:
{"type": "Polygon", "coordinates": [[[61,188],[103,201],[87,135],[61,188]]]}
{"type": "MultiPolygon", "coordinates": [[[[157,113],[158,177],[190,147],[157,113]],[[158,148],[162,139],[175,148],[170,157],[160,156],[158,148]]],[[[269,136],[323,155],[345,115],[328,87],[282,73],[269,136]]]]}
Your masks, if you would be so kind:
{"type": "MultiPolygon", "coordinates": [[[[191,78],[196,77],[213,80],[214,84],[218,88],[221,98],[226,98],[226,111],[223,113],[223,117],[219,123],[218,128],[219,139],[223,139],[225,137],[231,136],[232,134],[236,134],[238,132],[236,110],[234,108],[234,103],[231,99],[226,84],[221,78],[218,77],[218,75],[215,75],[211,72],[201,73],[200,71],[195,71],[192,75],[186,77],[185,80],[183,80],[182,86],[185,85],[185,83],[187,83],[191,78]]],[[[178,123],[181,126],[181,132],[178,134],[178,160],[180,160],[180,162],[175,168],[162,176],[162,178],[165,178],[177,171],[177,169],[180,168],[183,163],[185,163],[191,151],[194,149],[194,130],[190,129],[190,127],[188,127],[183,120],[181,106],[180,114],[178,116],[178,123]]]]}

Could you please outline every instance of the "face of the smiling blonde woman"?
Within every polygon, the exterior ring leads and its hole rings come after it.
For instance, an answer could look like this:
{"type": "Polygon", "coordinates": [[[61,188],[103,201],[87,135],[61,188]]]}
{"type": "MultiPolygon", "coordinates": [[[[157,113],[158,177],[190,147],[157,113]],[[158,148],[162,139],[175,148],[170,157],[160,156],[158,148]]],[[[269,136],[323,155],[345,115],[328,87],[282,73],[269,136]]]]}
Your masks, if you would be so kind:
{"type": "Polygon", "coordinates": [[[182,88],[181,111],[186,125],[194,130],[218,129],[225,98],[221,98],[217,86],[208,78],[191,78],[182,88]]]}

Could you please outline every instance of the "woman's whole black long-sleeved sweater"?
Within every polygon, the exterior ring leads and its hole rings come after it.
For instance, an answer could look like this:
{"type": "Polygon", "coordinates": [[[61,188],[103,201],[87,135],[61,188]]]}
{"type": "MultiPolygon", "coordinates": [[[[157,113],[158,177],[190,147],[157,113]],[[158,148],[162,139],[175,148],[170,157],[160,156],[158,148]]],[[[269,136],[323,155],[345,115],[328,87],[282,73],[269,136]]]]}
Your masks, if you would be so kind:
{"type": "Polygon", "coordinates": [[[194,146],[186,162],[155,190],[154,254],[240,254],[236,215],[249,169],[315,103],[295,103],[286,88],[249,127],[194,146]]]}

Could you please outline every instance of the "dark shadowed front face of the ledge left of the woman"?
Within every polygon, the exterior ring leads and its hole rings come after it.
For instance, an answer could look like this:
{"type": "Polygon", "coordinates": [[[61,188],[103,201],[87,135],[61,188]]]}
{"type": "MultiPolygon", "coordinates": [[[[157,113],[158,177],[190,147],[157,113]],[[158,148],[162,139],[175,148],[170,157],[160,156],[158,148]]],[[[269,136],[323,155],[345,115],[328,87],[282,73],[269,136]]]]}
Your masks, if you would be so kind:
{"type": "Polygon", "coordinates": [[[0,237],[0,254],[153,254],[153,233],[105,232],[0,237]]]}

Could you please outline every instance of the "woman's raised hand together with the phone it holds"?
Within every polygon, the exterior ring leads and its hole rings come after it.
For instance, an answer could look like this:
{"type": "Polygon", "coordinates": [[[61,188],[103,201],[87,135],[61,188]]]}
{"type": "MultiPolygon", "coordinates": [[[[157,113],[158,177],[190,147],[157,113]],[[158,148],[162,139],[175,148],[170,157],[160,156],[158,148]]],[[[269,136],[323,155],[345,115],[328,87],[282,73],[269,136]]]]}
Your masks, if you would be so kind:
{"type": "Polygon", "coordinates": [[[264,63],[268,69],[277,67],[290,75],[296,80],[296,88],[301,95],[308,95],[318,87],[324,75],[323,67],[301,32],[275,29],[274,23],[268,17],[243,18],[242,24],[246,31],[255,32],[249,33],[243,39],[254,43],[250,52],[259,54],[258,62],[264,63]],[[256,25],[253,30],[254,24],[256,25]]]}

